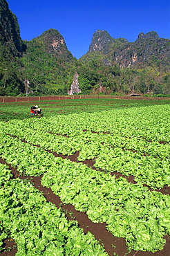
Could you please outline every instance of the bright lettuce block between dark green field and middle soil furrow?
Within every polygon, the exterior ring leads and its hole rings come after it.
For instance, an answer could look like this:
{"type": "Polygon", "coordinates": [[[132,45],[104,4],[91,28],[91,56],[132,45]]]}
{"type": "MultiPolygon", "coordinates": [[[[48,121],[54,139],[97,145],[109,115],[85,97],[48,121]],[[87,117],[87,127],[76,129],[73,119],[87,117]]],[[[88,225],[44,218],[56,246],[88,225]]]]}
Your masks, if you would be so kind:
{"type": "Polygon", "coordinates": [[[11,120],[3,132],[31,145],[93,159],[97,170],[135,176],[152,189],[170,185],[169,105],[11,120]]]}

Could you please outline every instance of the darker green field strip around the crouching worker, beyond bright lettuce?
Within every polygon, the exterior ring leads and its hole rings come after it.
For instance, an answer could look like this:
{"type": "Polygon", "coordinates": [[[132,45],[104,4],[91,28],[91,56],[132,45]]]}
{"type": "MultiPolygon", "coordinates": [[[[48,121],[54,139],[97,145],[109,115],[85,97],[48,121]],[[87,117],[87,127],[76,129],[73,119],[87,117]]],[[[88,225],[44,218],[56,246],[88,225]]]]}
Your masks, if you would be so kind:
{"type": "Polygon", "coordinates": [[[30,107],[38,104],[46,117],[70,113],[96,112],[110,109],[146,107],[155,104],[170,104],[170,100],[122,100],[122,99],[75,99],[37,102],[0,103],[0,120],[24,119],[30,117],[30,107]]]}

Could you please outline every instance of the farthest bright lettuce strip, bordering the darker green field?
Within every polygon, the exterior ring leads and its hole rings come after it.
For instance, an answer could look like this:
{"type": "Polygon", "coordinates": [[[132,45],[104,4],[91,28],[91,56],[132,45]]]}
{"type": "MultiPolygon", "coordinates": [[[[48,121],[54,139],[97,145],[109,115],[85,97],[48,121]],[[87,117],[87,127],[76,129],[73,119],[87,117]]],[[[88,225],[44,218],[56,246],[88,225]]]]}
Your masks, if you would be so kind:
{"type": "MultiPolygon", "coordinates": [[[[116,109],[95,113],[79,113],[68,116],[25,120],[24,127],[79,136],[79,131],[108,132],[122,137],[146,138],[152,141],[170,142],[169,105],[131,109],[116,109]]],[[[15,120],[11,120],[15,123],[15,120]]]]}

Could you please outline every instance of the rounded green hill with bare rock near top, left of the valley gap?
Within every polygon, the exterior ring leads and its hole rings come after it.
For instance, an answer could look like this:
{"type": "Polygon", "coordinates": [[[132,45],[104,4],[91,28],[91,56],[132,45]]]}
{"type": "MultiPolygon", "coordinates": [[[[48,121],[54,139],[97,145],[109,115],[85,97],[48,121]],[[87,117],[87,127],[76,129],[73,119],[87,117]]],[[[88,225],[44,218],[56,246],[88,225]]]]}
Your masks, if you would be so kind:
{"type": "Polygon", "coordinates": [[[74,75],[71,68],[77,60],[63,42],[62,35],[52,29],[26,42],[27,51],[22,57],[23,73],[35,95],[67,93],[69,75],[72,79],[74,75]]]}

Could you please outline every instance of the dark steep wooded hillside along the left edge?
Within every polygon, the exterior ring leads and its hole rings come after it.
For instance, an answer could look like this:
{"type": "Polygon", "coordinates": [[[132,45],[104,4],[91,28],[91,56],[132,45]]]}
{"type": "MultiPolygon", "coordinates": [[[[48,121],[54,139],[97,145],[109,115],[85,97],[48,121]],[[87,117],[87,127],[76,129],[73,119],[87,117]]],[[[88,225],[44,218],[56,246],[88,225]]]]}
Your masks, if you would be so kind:
{"type": "Polygon", "coordinates": [[[24,92],[20,57],[26,51],[21,41],[17,17],[8,3],[0,3],[0,95],[17,95],[24,92]]]}

